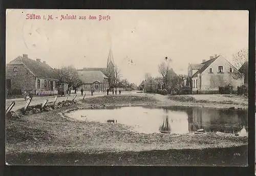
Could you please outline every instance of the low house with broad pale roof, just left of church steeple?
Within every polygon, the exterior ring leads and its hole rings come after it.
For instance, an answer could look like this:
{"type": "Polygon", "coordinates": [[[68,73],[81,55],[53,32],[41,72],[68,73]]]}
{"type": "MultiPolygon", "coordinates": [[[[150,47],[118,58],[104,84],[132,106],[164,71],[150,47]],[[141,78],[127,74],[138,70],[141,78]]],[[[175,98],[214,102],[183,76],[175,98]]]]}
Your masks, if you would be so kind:
{"type": "Polygon", "coordinates": [[[109,89],[109,78],[101,71],[78,71],[78,77],[82,81],[78,90],[106,92],[109,89]]]}

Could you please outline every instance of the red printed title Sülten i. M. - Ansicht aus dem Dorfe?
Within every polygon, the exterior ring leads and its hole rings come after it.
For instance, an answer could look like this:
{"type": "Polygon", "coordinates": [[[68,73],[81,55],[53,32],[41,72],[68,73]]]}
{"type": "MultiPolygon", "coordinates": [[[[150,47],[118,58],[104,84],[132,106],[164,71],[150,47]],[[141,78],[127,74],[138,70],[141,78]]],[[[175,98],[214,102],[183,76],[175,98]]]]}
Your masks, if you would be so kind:
{"type": "Polygon", "coordinates": [[[26,19],[30,20],[110,20],[110,15],[98,15],[98,16],[78,16],[74,14],[65,14],[65,15],[60,15],[60,16],[53,16],[53,15],[37,15],[34,13],[27,13],[26,14],[26,19]]]}

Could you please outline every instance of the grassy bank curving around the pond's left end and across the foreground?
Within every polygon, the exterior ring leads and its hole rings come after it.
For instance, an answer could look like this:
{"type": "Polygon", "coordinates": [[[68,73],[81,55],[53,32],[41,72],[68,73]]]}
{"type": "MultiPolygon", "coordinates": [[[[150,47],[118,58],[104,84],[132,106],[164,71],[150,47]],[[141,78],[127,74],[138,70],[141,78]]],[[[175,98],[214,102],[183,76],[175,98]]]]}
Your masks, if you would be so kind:
{"type": "MultiPolygon", "coordinates": [[[[108,164],[110,162],[113,165],[119,165],[119,157],[122,156],[124,158],[121,163],[124,165],[131,163],[144,165],[145,162],[151,163],[151,161],[157,165],[168,164],[168,162],[175,165],[175,163],[189,163],[188,159],[182,160],[182,155],[186,155],[184,152],[188,152],[186,149],[190,149],[190,156],[196,157],[201,150],[216,152],[215,155],[218,156],[223,147],[246,147],[248,145],[247,137],[217,134],[140,134],[122,124],[75,121],[59,115],[68,109],[91,107],[95,104],[156,105],[158,102],[157,98],[151,96],[92,97],[78,100],[76,104],[69,106],[53,108],[50,111],[28,114],[19,118],[9,117],[6,119],[7,162],[10,164],[19,162],[22,164],[58,164],[61,162],[61,164],[69,164],[69,161],[72,164],[78,157],[78,160],[82,161],[79,164],[108,164]],[[180,153],[177,150],[181,150],[180,153]],[[172,158],[175,156],[172,154],[174,152],[177,152],[176,158],[172,158]],[[51,159],[50,156],[53,158],[51,159]],[[169,159],[165,159],[167,156],[169,159]],[[91,158],[91,160],[84,158],[91,158]],[[73,159],[74,161],[71,161],[73,159]]],[[[246,151],[245,148],[240,152],[244,151],[246,151]]],[[[197,164],[195,157],[191,163],[197,164]]],[[[203,157],[202,155],[201,158],[203,157]]],[[[212,161],[217,162],[217,160],[218,157],[212,161]]],[[[231,159],[225,163],[230,162],[231,159]]],[[[241,163],[244,163],[242,157],[241,163]]]]}

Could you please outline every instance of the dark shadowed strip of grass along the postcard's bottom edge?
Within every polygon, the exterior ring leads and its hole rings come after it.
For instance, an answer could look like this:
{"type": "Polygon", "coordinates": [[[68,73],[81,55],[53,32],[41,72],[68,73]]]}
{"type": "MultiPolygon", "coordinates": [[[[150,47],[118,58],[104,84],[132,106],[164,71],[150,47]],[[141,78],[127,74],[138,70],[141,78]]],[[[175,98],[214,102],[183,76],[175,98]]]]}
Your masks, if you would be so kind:
{"type": "Polygon", "coordinates": [[[157,166],[247,166],[248,147],[214,149],[169,149],[104,153],[29,152],[7,155],[9,164],[28,165],[157,165],[157,166]],[[236,156],[240,153],[240,156],[236,156]]]}

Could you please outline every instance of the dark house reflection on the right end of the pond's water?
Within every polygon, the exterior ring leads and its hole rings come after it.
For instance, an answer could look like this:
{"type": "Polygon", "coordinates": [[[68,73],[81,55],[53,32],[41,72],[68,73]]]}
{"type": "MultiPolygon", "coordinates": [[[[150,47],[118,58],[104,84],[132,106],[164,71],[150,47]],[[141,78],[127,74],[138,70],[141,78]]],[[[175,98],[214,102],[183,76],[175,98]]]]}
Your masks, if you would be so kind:
{"type": "Polygon", "coordinates": [[[203,128],[207,132],[238,133],[243,126],[248,131],[248,112],[209,109],[201,107],[187,108],[188,130],[203,128]]]}

